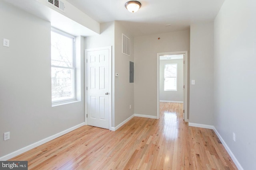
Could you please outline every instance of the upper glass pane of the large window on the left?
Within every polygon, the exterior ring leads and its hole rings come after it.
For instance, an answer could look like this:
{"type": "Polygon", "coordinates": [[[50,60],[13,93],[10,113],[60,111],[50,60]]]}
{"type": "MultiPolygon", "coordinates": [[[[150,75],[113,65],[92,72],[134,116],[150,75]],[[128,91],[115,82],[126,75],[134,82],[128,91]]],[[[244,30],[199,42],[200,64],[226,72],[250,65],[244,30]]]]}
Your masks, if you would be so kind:
{"type": "Polygon", "coordinates": [[[51,32],[52,65],[73,67],[73,38],[51,32]]]}

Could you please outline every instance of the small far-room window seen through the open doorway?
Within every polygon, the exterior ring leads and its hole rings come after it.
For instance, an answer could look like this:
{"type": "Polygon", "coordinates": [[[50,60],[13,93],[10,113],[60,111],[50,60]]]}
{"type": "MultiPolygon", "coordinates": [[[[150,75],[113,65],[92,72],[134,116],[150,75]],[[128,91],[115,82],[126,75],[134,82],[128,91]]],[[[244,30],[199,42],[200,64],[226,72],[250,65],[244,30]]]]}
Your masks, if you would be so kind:
{"type": "Polygon", "coordinates": [[[177,91],[177,64],[164,66],[164,91],[177,91]]]}

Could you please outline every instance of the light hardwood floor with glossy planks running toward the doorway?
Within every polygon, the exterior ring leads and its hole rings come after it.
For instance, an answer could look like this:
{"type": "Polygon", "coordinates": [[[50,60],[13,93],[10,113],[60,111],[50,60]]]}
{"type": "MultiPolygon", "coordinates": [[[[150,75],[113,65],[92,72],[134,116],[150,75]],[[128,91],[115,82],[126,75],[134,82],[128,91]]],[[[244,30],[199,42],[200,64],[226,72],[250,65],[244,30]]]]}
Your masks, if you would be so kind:
{"type": "Polygon", "coordinates": [[[160,119],[134,117],[117,131],[83,126],[11,160],[33,170],[237,170],[213,130],[188,127],[182,104],[160,119]]]}

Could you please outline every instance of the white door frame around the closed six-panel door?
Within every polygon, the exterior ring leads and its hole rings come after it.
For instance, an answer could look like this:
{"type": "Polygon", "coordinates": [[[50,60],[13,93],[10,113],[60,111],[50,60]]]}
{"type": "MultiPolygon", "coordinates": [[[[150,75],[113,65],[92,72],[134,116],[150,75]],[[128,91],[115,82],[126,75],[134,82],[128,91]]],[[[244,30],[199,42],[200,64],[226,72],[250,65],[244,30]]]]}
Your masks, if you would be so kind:
{"type": "Polygon", "coordinates": [[[99,47],[92,49],[84,50],[84,122],[88,125],[87,119],[87,52],[88,51],[99,51],[99,50],[107,50],[109,51],[109,130],[112,130],[112,46],[107,47],[99,47]]]}

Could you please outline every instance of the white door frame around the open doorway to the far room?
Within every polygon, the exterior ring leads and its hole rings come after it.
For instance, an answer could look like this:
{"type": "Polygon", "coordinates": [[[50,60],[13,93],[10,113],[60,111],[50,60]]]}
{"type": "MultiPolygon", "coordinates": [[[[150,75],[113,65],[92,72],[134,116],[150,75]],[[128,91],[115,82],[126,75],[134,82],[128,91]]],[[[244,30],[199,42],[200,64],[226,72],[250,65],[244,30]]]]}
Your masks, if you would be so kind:
{"type": "Polygon", "coordinates": [[[179,55],[179,54],[183,54],[184,55],[184,78],[185,81],[183,82],[183,84],[185,85],[184,88],[184,93],[185,93],[185,98],[184,98],[184,102],[186,103],[186,105],[184,105],[184,121],[188,122],[188,51],[176,51],[176,52],[166,52],[166,53],[157,53],[156,55],[156,117],[157,119],[159,119],[159,94],[160,94],[160,77],[159,77],[159,72],[160,72],[160,55],[179,55]]]}

